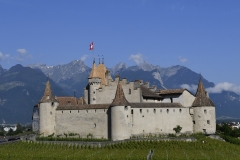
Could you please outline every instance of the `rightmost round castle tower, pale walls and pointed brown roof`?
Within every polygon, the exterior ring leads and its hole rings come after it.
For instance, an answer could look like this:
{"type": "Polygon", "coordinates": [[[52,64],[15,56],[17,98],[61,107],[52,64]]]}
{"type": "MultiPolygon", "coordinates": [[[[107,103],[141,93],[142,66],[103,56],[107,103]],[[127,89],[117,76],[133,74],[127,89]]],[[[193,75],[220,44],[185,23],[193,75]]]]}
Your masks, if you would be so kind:
{"type": "Polygon", "coordinates": [[[208,97],[201,79],[195,97],[196,98],[192,104],[194,110],[193,132],[214,134],[216,132],[215,105],[208,97]]]}

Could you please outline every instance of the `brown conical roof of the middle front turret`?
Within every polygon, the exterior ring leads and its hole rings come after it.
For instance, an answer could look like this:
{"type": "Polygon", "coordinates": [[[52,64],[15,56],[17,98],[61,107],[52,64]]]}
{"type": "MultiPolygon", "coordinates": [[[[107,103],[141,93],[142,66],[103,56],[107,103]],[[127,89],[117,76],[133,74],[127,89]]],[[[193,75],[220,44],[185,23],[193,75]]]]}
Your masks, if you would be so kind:
{"type": "Polygon", "coordinates": [[[118,83],[115,98],[111,106],[130,106],[130,103],[125,98],[122,85],[118,83]]]}

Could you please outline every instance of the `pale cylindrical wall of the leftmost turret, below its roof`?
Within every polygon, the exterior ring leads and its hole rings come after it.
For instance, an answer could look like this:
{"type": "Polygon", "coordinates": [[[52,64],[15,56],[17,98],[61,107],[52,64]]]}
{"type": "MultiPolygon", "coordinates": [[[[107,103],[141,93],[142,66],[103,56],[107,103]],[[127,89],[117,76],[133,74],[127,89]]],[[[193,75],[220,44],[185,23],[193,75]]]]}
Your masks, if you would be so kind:
{"type": "Polygon", "coordinates": [[[55,133],[55,114],[58,102],[41,103],[39,107],[40,126],[39,133],[48,136],[55,133]]]}

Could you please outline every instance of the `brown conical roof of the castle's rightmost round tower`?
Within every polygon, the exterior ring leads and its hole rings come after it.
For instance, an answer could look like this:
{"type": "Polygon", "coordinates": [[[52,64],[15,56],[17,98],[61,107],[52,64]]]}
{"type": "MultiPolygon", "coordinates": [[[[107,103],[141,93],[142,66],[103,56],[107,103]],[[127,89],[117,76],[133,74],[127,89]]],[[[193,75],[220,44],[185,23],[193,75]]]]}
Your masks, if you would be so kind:
{"type": "Polygon", "coordinates": [[[211,99],[207,96],[206,91],[204,89],[202,78],[199,80],[198,89],[196,93],[196,98],[192,104],[193,107],[201,107],[201,106],[215,106],[211,99]]]}

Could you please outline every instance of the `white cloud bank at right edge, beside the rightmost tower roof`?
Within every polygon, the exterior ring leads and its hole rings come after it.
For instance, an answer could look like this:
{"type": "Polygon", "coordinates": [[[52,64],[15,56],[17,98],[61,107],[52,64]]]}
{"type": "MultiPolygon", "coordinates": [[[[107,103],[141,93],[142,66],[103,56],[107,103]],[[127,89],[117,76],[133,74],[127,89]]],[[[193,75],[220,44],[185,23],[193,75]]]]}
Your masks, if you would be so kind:
{"type": "Polygon", "coordinates": [[[206,90],[209,93],[222,93],[222,91],[230,91],[240,95],[240,86],[229,82],[218,83],[214,87],[207,88],[206,90]]]}

